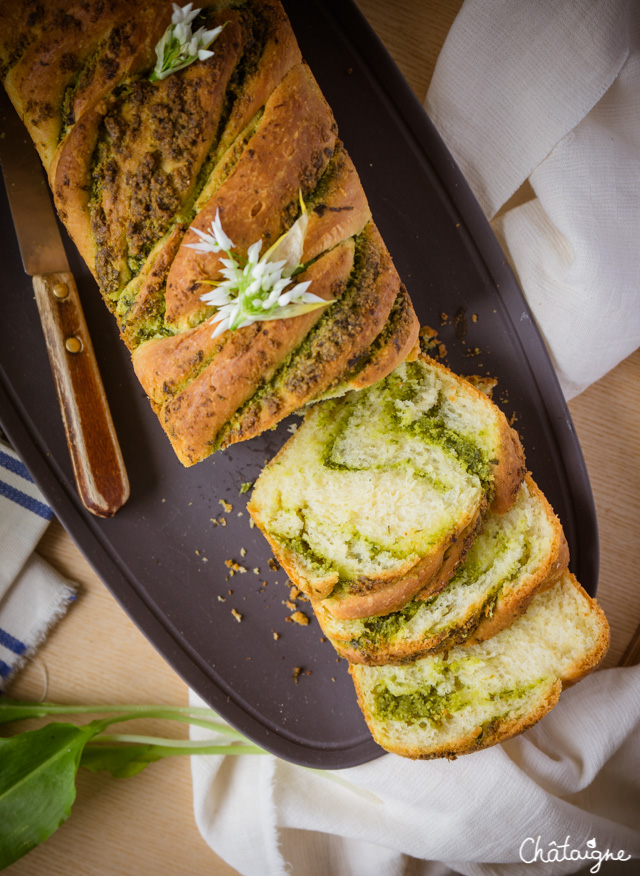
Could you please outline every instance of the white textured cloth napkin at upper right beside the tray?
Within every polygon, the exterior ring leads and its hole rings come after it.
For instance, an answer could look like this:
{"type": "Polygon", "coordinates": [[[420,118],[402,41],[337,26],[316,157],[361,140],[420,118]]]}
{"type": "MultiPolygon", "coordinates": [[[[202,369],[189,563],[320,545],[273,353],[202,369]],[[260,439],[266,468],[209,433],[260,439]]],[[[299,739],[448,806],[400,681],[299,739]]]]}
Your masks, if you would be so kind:
{"type": "Polygon", "coordinates": [[[640,346],[640,4],[466,0],[425,103],[567,398],[640,346]]]}

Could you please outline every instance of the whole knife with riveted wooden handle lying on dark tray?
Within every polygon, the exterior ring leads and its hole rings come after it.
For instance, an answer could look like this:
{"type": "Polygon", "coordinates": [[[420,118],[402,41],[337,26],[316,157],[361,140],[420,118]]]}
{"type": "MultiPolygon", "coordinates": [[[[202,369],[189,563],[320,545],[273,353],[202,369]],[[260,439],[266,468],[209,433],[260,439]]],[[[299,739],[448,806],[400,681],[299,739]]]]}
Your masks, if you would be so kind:
{"type": "Polygon", "coordinates": [[[126,502],[129,481],[78,289],[40,158],[4,96],[0,107],[0,164],[22,263],[33,282],[78,494],[92,514],[111,517],[126,502]]]}

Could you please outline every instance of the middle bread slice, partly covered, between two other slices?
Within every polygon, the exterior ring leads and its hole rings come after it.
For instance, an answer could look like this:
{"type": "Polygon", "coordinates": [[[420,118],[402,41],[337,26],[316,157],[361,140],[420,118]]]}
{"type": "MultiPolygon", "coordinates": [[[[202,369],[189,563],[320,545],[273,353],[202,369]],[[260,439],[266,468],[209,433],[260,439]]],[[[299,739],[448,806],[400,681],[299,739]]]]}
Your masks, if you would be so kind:
{"type": "Polygon", "coordinates": [[[488,516],[464,562],[436,595],[418,593],[398,611],[356,620],[334,617],[322,602],[314,607],[323,632],[350,662],[406,663],[495,635],[568,562],[560,521],[527,475],[513,507],[488,516]]]}

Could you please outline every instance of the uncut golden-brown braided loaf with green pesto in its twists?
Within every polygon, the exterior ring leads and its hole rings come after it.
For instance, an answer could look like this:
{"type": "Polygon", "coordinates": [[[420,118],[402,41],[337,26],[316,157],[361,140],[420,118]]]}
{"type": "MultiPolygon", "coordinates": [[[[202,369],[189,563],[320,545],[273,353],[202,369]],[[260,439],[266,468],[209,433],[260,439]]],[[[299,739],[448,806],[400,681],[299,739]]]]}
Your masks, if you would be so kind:
{"type": "Polygon", "coordinates": [[[7,92],[62,221],[185,465],[374,383],[418,323],[278,0],[203,0],[213,57],[151,82],[167,0],[0,6],[7,92]],[[297,280],[329,306],[212,337],[216,214],[238,252],[309,216],[297,280]]]}

